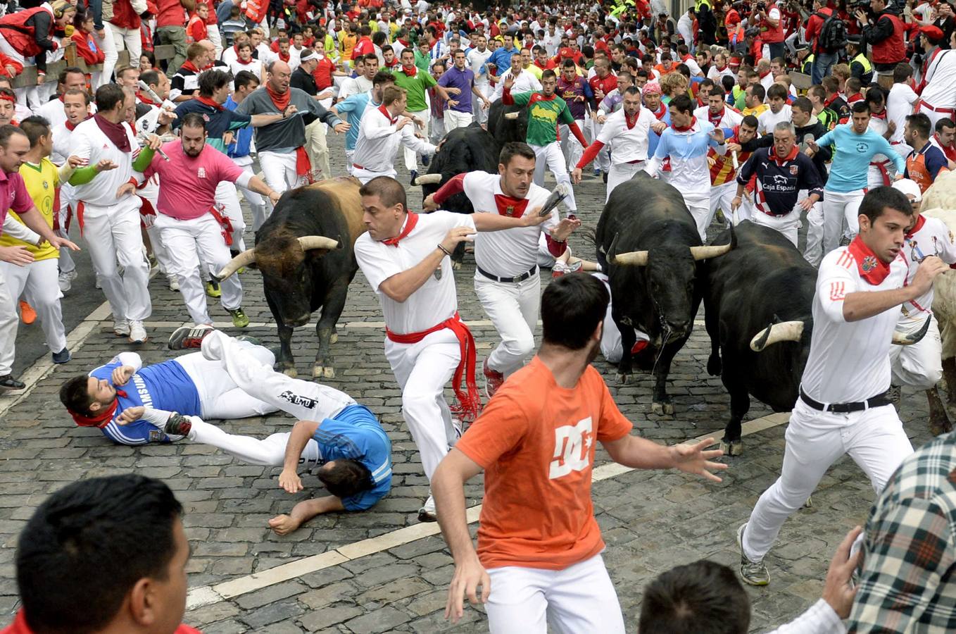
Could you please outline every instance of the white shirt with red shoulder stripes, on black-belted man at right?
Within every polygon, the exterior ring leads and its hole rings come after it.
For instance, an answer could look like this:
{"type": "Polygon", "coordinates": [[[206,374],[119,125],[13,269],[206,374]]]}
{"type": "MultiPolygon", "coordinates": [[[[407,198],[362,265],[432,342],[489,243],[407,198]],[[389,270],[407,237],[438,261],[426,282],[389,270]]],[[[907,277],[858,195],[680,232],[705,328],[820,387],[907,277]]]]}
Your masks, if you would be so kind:
{"type": "Polygon", "coordinates": [[[853,322],[843,317],[846,295],[902,288],[907,272],[902,254],[890,263],[889,274],[879,283],[872,284],[862,277],[863,267],[873,267],[872,274],[880,266],[875,255],[861,256],[858,262],[850,247],[830,251],[820,263],[814,295],[814,333],[801,381],[803,391],[815,401],[856,403],[881,394],[890,386],[889,352],[900,314],[887,310],[853,322]]]}

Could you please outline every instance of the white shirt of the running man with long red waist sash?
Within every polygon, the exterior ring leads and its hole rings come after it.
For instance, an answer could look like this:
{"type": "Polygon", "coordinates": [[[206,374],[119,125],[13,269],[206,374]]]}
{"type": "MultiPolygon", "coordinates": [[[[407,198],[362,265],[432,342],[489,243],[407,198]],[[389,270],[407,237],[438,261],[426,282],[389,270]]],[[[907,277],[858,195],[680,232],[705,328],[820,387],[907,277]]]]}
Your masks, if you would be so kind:
{"type": "Polygon", "coordinates": [[[445,239],[448,231],[456,227],[475,230],[475,223],[466,213],[435,211],[419,214],[415,228],[395,247],[373,240],[368,232],[359,235],[355,245],[356,261],[372,290],[379,295],[385,326],[392,332],[400,335],[420,333],[455,315],[458,296],[448,257],[442,258],[442,273],[430,275],[428,281],[403,302],[382,293],[380,286],[392,275],[419,264],[437,249],[436,245],[445,239]]]}

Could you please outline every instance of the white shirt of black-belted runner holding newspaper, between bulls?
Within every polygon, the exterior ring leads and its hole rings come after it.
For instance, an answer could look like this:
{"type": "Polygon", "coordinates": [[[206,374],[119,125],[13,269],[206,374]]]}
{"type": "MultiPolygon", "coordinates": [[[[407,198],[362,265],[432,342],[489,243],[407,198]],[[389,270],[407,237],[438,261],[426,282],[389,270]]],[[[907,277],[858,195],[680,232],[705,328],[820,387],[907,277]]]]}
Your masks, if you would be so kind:
{"type": "MultiPolygon", "coordinates": [[[[501,213],[497,196],[505,196],[501,189],[501,175],[489,172],[468,172],[463,181],[465,195],[471,201],[475,211],[501,213]]],[[[551,192],[532,183],[524,213],[539,208],[548,200],[551,192]]],[[[503,203],[504,204],[504,203],[503,203]]],[[[507,206],[506,206],[507,208],[507,206]]],[[[515,213],[517,217],[521,214],[515,213]]],[[[512,277],[528,273],[537,264],[538,236],[542,231],[557,227],[560,218],[557,209],[551,211],[551,217],[534,227],[520,227],[502,231],[483,231],[475,234],[475,263],[482,270],[498,277],[512,277]]],[[[475,279],[487,279],[475,271],[475,279]]]]}

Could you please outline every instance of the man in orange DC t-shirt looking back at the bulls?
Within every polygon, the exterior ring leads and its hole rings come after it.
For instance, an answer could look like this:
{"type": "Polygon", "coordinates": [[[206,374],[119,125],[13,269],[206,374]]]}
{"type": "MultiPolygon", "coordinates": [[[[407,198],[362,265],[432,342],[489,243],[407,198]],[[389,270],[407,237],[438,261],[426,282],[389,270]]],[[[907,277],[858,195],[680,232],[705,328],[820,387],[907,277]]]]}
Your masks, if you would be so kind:
{"type": "Polygon", "coordinates": [[[455,559],[445,617],[463,597],[486,602],[491,632],[622,633],[618,596],[600,557],[591,502],[595,441],[634,469],[677,468],[717,481],[720,450],[664,447],[631,435],[607,385],[590,365],[600,348],[609,296],[591,275],[554,280],[541,299],[537,356],[502,385],[432,476],[438,521],[455,559]],[[478,551],[465,514],[464,483],[485,470],[478,551]]]}

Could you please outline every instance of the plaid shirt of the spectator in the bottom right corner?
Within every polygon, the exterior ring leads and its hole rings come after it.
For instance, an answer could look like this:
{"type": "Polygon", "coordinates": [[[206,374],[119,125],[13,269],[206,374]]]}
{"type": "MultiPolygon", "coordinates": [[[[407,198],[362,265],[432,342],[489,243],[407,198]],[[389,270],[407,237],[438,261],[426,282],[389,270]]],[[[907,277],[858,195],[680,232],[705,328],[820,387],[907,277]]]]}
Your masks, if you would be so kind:
{"type": "Polygon", "coordinates": [[[866,523],[849,632],[956,631],[956,434],[906,458],[866,523]]]}

